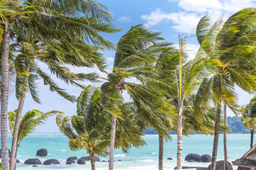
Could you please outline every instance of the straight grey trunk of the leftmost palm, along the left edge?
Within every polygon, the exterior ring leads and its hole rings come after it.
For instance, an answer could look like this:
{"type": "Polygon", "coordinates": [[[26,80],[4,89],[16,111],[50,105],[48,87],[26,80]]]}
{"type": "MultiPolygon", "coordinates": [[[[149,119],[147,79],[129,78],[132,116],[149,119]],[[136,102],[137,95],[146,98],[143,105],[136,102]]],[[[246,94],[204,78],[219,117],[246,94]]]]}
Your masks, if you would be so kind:
{"type": "Polygon", "coordinates": [[[4,25],[3,44],[1,52],[1,169],[9,170],[8,150],[8,98],[9,98],[9,21],[4,25]]]}

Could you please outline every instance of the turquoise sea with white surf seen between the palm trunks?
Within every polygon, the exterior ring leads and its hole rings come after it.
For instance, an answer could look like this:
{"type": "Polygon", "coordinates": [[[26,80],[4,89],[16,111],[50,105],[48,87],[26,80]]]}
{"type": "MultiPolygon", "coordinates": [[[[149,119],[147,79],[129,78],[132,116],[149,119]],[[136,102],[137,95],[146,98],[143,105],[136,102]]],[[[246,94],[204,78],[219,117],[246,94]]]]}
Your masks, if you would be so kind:
{"type": "MultiPolygon", "coordinates": [[[[176,135],[171,135],[171,142],[164,142],[164,169],[174,169],[176,166],[176,135]],[[167,160],[167,158],[173,160],[167,160]]],[[[158,169],[158,135],[145,135],[144,140],[146,146],[131,148],[129,154],[124,154],[122,150],[117,149],[114,152],[114,169],[127,169],[127,170],[156,170],[158,169]],[[122,160],[122,162],[118,162],[122,160]]],[[[11,145],[11,136],[10,136],[11,145]]],[[[183,137],[183,159],[187,154],[212,154],[213,136],[211,135],[191,135],[183,137]]],[[[242,157],[247,150],[250,149],[250,135],[228,135],[228,157],[229,162],[242,157]]],[[[79,152],[72,152],[68,147],[68,138],[56,133],[48,134],[33,134],[26,137],[21,142],[21,147],[18,148],[17,159],[21,163],[17,164],[17,169],[72,169],[82,170],[90,169],[90,162],[85,165],[71,164],[66,165],[65,160],[68,157],[86,157],[88,156],[85,150],[79,152]],[[38,149],[45,148],[48,150],[47,157],[37,157],[36,152],[38,149]],[[31,165],[23,164],[26,159],[38,158],[41,160],[42,165],[32,167],[31,165]],[[61,164],[59,165],[43,165],[46,159],[58,159],[61,164]]],[[[218,160],[223,159],[223,136],[219,137],[218,147],[218,160]]],[[[100,160],[108,160],[108,157],[100,157],[100,160]]],[[[210,163],[196,163],[185,162],[183,166],[208,166],[210,163]]],[[[96,162],[96,169],[103,170],[108,168],[107,162],[96,162]]],[[[236,167],[234,166],[234,169],[236,167]]]]}

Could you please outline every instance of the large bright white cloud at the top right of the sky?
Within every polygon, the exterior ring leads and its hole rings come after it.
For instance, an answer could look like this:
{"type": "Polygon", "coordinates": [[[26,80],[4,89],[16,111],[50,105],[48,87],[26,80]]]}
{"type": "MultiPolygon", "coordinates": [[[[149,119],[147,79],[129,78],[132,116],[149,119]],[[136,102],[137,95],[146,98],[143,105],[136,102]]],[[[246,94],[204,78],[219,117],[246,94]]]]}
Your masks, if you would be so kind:
{"type": "Polygon", "coordinates": [[[176,3],[181,8],[178,12],[168,13],[157,8],[150,14],[142,16],[146,21],[146,27],[156,26],[159,23],[169,23],[171,28],[177,32],[188,33],[196,28],[200,18],[210,14],[212,21],[216,21],[223,16],[224,21],[233,13],[242,8],[256,6],[255,0],[167,0],[176,3]]]}

